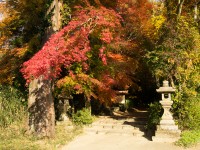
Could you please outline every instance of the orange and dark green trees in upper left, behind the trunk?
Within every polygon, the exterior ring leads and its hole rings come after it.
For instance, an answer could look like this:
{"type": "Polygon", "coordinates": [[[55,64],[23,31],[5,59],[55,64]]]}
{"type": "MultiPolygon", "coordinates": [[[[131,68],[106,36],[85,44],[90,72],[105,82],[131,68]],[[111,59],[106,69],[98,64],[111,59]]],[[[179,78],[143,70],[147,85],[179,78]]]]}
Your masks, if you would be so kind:
{"type": "MultiPolygon", "coordinates": [[[[45,27],[46,2],[6,1],[7,12],[0,22],[0,82],[23,88],[24,80],[19,70],[42,44],[45,27]]],[[[24,89],[24,88],[23,88],[24,89]]]]}

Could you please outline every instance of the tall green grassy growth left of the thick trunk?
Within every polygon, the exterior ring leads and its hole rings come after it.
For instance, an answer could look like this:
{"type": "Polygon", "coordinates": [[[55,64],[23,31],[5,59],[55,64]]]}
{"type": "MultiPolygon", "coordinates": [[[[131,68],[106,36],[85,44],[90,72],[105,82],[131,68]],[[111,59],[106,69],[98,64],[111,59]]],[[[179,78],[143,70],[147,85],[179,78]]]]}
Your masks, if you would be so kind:
{"type": "Polygon", "coordinates": [[[25,115],[22,93],[11,86],[0,85],[0,127],[21,121],[25,115]]]}

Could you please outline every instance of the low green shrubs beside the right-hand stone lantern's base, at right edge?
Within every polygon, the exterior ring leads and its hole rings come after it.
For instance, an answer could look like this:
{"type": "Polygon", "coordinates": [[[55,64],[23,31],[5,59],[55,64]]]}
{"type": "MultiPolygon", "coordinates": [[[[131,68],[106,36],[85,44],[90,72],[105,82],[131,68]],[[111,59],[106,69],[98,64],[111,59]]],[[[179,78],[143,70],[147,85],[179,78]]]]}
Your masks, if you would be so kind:
{"type": "Polygon", "coordinates": [[[191,147],[200,143],[200,95],[188,97],[182,109],[178,109],[179,125],[183,129],[180,140],[176,144],[191,147]]]}

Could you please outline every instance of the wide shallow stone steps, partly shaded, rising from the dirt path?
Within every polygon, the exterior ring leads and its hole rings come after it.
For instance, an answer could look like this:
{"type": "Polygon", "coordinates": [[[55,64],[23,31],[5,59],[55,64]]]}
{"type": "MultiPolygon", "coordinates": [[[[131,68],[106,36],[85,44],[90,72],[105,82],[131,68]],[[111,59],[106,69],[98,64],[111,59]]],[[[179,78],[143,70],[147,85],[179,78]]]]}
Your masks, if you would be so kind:
{"type": "Polygon", "coordinates": [[[116,111],[112,116],[99,116],[84,130],[89,134],[117,134],[145,136],[147,111],[132,109],[129,112],[116,111]]]}

